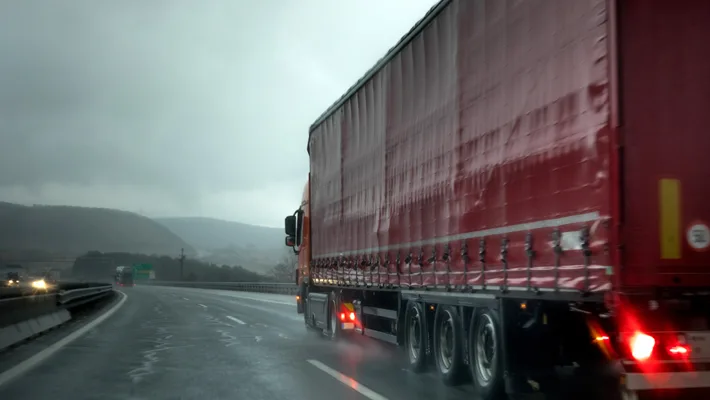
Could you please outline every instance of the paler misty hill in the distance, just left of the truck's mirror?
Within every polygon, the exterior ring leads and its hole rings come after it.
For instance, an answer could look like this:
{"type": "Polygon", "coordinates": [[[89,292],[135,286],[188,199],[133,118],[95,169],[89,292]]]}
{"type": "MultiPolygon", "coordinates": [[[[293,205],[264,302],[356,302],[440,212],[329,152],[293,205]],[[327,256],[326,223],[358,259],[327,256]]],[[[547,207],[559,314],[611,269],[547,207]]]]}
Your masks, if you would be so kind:
{"type": "Polygon", "coordinates": [[[266,273],[285,254],[283,229],[212,218],[156,218],[192,245],[198,258],[266,273]]]}

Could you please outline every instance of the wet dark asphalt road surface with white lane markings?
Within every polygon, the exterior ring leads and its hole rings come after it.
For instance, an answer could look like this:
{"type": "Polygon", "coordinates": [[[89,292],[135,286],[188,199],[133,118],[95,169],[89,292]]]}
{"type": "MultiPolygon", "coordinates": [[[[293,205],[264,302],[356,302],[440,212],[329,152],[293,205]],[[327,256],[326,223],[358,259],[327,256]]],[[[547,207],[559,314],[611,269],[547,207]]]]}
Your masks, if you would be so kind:
{"type": "Polygon", "coordinates": [[[475,399],[374,340],[306,330],[291,296],[134,287],[108,319],[0,399],[475,399]]]}

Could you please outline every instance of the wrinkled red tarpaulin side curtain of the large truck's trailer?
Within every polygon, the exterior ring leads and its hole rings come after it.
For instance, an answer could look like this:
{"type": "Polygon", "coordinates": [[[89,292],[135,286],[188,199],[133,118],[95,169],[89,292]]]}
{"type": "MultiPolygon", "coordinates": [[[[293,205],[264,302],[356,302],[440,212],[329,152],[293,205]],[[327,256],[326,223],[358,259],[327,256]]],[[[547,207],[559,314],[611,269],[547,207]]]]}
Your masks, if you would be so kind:
{"type": "Polygon", "coordinates": [[[450,1],[311,133],[315,277],[610,289],[607,28],[450,1]]]}

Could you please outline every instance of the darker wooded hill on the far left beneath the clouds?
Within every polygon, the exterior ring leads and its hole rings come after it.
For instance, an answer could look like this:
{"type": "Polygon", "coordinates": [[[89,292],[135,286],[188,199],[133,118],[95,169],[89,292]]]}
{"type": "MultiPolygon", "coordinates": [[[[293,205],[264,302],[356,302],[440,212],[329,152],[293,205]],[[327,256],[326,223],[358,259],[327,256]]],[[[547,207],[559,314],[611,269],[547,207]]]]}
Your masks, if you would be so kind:
{"type": "Polygon", "coordinates": [[[150,218],[126,211],[0,202],[0,252],[40,250],[66,256],[87,251],[175,255],[195,250],[150,218]]]}

